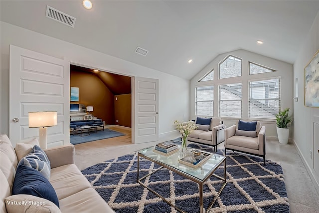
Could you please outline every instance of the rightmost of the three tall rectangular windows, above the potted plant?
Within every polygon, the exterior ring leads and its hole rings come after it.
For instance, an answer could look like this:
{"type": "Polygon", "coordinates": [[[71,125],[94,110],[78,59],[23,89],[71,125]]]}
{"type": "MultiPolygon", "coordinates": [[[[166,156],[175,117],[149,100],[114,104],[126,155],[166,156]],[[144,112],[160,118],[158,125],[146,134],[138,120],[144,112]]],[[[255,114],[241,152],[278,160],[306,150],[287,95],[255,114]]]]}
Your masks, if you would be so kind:
{"type": "Polygon", "coordinates": [[[249,82],[249,117],[275,118],[280,109],[280,78],[249,82]]]}

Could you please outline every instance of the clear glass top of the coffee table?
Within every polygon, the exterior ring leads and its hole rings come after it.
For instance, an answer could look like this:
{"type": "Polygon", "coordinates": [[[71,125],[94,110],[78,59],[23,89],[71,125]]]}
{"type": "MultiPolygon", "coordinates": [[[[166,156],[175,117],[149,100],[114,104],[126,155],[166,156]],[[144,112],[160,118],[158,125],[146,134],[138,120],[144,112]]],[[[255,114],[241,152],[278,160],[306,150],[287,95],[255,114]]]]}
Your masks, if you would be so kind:
{"type": "MultiPolygon", "coordinates": [[[[141,154],[142,157],[146,156],[152,159],[152,161],[154,161],[155,163],[160,162],[162,164],[165,164],[166,166],[177,169],[182,173],[193,176],[201,181],[203,181],[207,177],[207,175],[211,175],[211,172],[215,171],[226,158],[225,156],[211,153],[209,159],[206,160],[202,165],[198,166],[197,168],[192,168],[178,162],[179,159],[184,157],[184,154],[180,151],[180,146],[178,146],[178,149],[178,152],[175,152],[169,156],[154,152],[154,146],[142,149],[138,152],[139,154],[141,154]]],[[[188,148],[187,150],[192,149],[188,148]]]]}

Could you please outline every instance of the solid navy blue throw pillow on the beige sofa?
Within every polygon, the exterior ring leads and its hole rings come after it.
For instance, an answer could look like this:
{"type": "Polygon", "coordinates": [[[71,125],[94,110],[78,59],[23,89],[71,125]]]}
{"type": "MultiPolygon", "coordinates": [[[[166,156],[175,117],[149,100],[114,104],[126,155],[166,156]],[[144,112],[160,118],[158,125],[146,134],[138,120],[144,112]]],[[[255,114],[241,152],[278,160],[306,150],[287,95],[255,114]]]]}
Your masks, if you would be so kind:
{"type": "Polygon", "coordinates": [[[57,207],[59,200],[50,182],[36,169],[18,165],[13,181],[12,195],[33,195],[53,202],[57,207]]]}

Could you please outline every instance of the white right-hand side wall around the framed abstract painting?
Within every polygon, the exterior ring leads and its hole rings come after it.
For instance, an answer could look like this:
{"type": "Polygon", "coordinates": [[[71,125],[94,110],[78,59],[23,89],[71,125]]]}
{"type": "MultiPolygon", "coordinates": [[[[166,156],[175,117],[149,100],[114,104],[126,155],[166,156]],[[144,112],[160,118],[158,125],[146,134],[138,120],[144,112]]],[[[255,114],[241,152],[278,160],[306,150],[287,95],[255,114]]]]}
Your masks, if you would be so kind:
{"type": "MultiPolygon", "coordinates": [[[[294,102],[294,123],[295,129],[294,139],[297,149],[302,155],[302,159],[308,168],[311,176],[317,182],[317,189],[319,190],[319,171],[314,170],[314,158],[317,156],[318,151],[314,147],[314,121],[319,118],[319,108],[306,107],[304,105],[304,68],[308,62],[313,58],[314,54],[319,50],[319,12],[313,22],[312,28],[301,47],[299,56],[294,63],[294,79],[298,78],[298,96],[299,101],[294,102]],[[311,152],[312,151],[312,155],[311,152]],[[316,155],[316,156],[315,156],[316,155]]],[[[318,141],[315,144],[318,145],[318,141]]],[[[318,168],[319,162],[315,163],[318,168]]]]}

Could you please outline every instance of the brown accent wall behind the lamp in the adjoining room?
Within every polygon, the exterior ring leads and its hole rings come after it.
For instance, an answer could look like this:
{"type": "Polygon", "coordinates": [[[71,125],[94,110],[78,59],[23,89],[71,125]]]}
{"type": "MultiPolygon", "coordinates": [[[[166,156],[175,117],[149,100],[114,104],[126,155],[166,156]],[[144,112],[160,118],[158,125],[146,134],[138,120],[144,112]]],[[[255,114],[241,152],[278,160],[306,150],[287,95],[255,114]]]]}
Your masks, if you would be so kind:
{"type": "Polygon", "coordinates": [[[79,101],[71,103],[93,106],[90,114],[103,119],[105,125],[114,124],[114,95],[98,76],[71,70],[70,84],[79,87],[79,101]]]}

